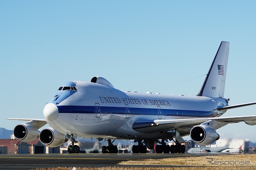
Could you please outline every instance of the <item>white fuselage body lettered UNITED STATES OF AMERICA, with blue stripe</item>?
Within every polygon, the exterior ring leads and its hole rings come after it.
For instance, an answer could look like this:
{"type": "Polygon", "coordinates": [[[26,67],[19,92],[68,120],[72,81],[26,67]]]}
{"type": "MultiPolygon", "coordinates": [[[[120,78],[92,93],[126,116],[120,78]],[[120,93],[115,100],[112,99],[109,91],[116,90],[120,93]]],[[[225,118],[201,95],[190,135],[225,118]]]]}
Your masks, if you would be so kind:
{"type": "MultiPolygon", "coordinates": [[[[61,133],[86,138],[163,139],[164,133],[140,133],[132,125],[141,119],[218,117],[224,112],[217,108],[228,105],[225,98],[123,92],[93,82],[76,81],[75,87],[77,91],[60,103],[51,102],[58,107],[58,117],[46,121],[61,133]]],[[[69,91],[58,91],[58,99],[69,91]]],[[[188,135],[190,129],[180,132],[188,135]]]]}

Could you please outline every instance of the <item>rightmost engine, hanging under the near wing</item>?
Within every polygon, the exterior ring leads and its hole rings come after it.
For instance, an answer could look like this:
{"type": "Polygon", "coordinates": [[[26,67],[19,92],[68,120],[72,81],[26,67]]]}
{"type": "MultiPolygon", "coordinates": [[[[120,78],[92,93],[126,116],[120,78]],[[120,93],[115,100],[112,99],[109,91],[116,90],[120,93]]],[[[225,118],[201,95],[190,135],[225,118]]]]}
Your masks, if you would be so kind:
{"type": "Polygon", "coordinates": [[[192,141],[198,145],[209,145],[220,139],[220,135],[210,126],[197,125],[190,131],[192,141]]]}

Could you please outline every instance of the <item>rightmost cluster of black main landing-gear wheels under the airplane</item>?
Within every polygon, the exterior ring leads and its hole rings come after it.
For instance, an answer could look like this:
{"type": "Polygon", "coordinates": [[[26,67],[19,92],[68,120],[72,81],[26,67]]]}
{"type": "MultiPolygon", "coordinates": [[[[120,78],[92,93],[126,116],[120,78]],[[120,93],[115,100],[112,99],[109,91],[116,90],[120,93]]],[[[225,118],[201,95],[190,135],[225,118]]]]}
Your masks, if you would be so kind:
{"type": "Polygon", "coordinates": [[[185,145],[181,145],[176,141],[176,145],[166,145],[165,140],[158,141],[161,145],[156,145],[156,153],[185,153],[185,145]]]}

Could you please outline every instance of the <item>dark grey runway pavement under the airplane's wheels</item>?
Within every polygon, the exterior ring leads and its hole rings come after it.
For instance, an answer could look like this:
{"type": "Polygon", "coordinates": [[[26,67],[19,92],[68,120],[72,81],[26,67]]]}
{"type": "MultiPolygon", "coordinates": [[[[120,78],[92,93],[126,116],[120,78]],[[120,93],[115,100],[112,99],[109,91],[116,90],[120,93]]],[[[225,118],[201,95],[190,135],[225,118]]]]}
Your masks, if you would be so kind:
{"type": "MultiPolygon", "coordinates": [[[[209,155],[209,154],[208,154],[209,155]]],[[[213,154],[212,154],[213,155],[213,154]]],[[[214,154],[216,155],[216,154],[214,154]]],[[[222,154],[223,155],[223,154],[222,154]]],[[[0,169],[35,169],[53,167],[102,167],[116,165],[121,161],[145,159],[162,159],[205,154],[0,154],[0,169]]],[[[138,167],[138,166],[137,166],[138,167]]],[[[143,166],[145,167],[145,165],[143,166]]],[[[154,167],[154,166],[146,166],[154,167]]],[[[161,167],[161,166],[156,166],[161,167]]],[[[163,166],[176,167],[176,166],[163,166]]]]}

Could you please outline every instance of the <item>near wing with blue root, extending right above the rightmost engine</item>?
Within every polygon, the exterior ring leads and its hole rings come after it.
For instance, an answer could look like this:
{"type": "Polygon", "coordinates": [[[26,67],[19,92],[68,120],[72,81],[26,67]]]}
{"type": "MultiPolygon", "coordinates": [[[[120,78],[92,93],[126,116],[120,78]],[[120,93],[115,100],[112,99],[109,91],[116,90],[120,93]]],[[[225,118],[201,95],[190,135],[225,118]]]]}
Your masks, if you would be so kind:
{"type": "Polygon", "coordinates": [[[248,125],[256,125],[256,115],[254,116],[236,116],[236,117],[203,117],[194,119],[157,119],[148,120],[140,119],[132,125],[135,131],[143,133],[152,133],[156,131],[168,131],[170,129],[186,128],[200,125],[202,123],[211,121],[214,123],[214,129],[218,129],[228,123],[238,123],[244,121],[248,125]]]}

